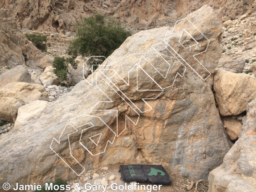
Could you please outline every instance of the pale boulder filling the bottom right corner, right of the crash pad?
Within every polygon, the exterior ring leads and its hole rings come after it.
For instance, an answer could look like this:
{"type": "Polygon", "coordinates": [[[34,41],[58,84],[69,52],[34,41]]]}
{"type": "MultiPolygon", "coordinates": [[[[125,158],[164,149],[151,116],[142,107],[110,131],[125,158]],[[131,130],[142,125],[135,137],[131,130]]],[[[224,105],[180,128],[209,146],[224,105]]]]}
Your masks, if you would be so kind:
{"type": "Polygon", "coordinates": [[[239,139],[223,159],[223,164],[209,174],[208,192],[256,191],[256,100],[246,108],[247,120],[239,139]]]}

